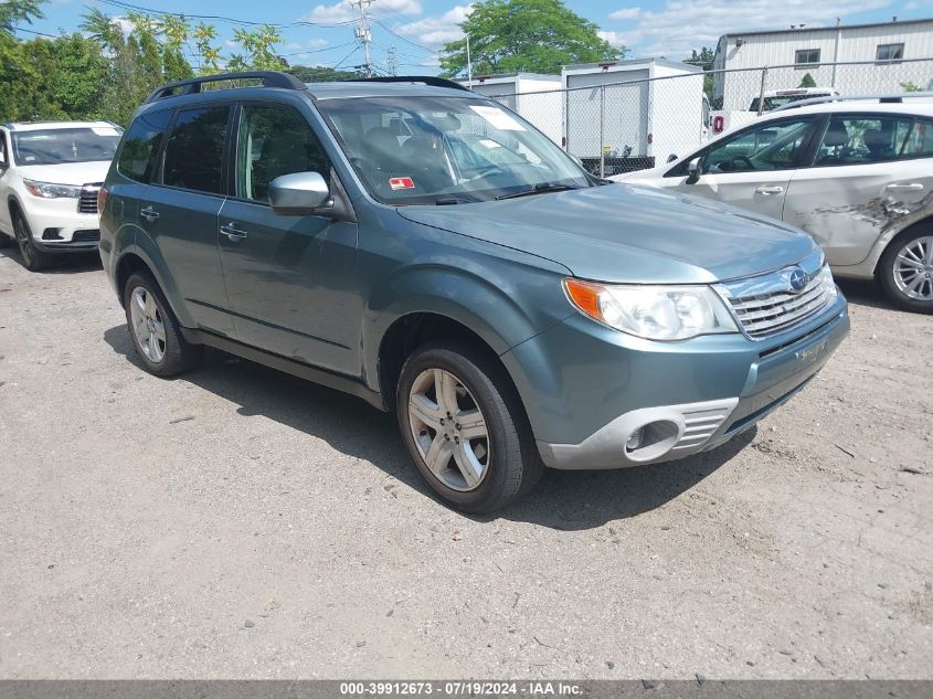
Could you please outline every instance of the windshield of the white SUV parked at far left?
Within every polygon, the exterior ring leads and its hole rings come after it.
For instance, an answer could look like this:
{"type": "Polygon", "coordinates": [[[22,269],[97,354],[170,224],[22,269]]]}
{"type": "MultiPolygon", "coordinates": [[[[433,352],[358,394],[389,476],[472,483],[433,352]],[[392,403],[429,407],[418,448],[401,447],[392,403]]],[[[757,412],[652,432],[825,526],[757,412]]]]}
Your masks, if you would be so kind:
{"type": "Polygon", "coordinates": [[[13,131],[13,156],[20,165],[61,165],[110,160],[120,140],[115,126],[13,131]]]}

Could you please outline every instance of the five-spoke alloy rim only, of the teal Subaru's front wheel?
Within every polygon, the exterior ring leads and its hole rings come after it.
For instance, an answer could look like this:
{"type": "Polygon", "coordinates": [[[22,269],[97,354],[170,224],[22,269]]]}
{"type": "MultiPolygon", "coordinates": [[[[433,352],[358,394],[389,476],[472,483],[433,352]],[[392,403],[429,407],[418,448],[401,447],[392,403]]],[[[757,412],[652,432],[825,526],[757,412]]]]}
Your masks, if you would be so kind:
{"type": "Polygon", "coordinates": [[[444,369],[421,372],[409,393],[412,436],[428,470],[445,486],[475,490],[489,470],[489,432],[479,404],[444,369]]]}

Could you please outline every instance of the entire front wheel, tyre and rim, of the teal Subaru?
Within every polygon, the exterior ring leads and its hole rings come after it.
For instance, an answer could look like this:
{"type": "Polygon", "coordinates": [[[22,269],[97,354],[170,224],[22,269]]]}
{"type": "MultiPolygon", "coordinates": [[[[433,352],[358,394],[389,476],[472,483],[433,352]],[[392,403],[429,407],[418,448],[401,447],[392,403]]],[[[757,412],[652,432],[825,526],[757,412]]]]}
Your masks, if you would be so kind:
{"type": "Polygon", "coordinates": [[[416,350],[402,368],[396,414],[422,476],[459,510],[499,509],[541,476],[518,396],[501,370],[469,348],[416,350]]]}

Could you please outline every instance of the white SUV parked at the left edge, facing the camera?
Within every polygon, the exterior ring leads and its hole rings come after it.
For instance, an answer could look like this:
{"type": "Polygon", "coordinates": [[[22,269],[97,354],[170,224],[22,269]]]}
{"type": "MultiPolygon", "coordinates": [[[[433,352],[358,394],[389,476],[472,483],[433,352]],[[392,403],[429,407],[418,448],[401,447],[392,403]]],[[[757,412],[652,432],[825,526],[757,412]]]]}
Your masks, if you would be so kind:
{"type": "Polygon", "coordinates": [[[121,133],[107,121],[0,125],[0,246],[15,240],[32,271],[95,250],[97,192],[121,133]]]}

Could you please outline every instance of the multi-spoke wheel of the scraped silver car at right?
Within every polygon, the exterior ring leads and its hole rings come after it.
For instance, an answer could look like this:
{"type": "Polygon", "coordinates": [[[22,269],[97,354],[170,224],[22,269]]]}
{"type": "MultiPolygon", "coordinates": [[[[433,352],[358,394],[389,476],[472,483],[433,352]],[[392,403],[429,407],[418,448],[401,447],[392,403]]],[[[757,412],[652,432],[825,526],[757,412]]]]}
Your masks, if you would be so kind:
{"type": "Polygon", "coordinates": [[[933,225],[905,231],[881,257],[881,286],[901,308],[933,313],[933,225]]]}

